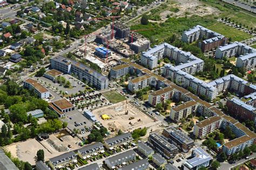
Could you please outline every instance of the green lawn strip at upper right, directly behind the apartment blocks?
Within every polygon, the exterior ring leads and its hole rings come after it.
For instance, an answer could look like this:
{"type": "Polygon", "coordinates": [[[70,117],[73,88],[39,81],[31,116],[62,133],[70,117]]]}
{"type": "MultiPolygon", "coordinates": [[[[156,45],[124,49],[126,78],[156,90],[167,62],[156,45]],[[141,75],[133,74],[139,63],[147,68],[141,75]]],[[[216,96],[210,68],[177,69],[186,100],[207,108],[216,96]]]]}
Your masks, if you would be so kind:
{"type": "Polygon", "coordinates": [[[231,26],[227,26],[222,23],[215,23],[212,26],[208,26],[207,28],[213,31],[216,31],[218,33],[221,33],[222,35],[228,38],[232,38],[232,42],[235,42],[235,41],[240,42],[242,40],[249,39],[252,37],[248,33],[239,31],[237,29],[232,28],[231,26]]]}

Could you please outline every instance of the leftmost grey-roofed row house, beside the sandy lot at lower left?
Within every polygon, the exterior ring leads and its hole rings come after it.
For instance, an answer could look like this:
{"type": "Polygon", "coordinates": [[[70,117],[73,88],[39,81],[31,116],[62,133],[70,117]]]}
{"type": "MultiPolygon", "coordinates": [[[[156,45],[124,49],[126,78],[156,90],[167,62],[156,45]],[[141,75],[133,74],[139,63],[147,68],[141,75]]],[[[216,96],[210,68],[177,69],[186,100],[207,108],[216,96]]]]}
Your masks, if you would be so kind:
{"type": "Polygon", "coordinates": [[[77,162],[77,155],[75,152],[71,151],[49,159],[49,165],[52,169],[62,168],[64,165],[69,165],[70,163],[77,162]]]}

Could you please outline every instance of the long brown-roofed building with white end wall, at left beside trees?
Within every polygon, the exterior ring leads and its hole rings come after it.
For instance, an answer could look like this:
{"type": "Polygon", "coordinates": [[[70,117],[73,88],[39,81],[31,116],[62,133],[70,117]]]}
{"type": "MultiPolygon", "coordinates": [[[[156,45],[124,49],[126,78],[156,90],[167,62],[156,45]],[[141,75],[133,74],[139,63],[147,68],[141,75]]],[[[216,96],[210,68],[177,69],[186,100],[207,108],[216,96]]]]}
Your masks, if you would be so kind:
{"type": "Polygon", "coordinates": [[[29,90],[34,90],[37,96],[41,99],[47,99],[50,97],[50,92],[36,80],[28,78],[23,82],[23,86],[29,90]]]}

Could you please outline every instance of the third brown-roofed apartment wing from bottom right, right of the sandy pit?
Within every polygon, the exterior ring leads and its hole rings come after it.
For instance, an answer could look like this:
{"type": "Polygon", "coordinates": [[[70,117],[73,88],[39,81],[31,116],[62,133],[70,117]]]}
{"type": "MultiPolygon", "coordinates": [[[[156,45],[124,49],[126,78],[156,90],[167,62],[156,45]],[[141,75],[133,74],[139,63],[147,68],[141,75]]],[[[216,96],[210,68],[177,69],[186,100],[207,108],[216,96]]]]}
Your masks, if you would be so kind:
{"type": "Polygon", "coordinates": [[[176,107],[171,108],[170,119],[180,121],[182,118],[187,118],[188,115],[195,113],[197,110],[197,102],[194,100],[187,101],[176,107]]]}

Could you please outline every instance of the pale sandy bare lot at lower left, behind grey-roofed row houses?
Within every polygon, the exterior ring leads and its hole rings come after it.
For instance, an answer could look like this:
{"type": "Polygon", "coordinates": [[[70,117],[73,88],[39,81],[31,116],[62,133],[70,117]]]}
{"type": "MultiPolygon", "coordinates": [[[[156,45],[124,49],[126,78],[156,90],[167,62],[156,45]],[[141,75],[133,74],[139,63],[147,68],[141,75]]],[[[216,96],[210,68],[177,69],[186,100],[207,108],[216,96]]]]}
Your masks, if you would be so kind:
{"type": "MultiPolygon", "coordinates": [[[[79,148],[79,146],[76,145],[76,142],[80,142],[78,138],[72,138],[70,135],[64,134],[62,132],[58,134],[51,134],[49,139],[54,141],[57,146],[67,148],[68,151],[72,151],[74,149],[79,148]],[[57,138],[59,137],[59,135],[61,135],[60,139],[62,141],[60,141],[57,138]],[[68,145],[71,145],[71,148],[69,148],[68,145]]],[[[30,139],[24,142],[11,144],[9,146],[6,146],[5,148],[7,151],[11,152],[11,155],[13,157],[16,157],[22,161],[28,161],[31,165],[35,165],[36,163],[35,162],[36,153],[39,149],[44,150],[44,158],[46,161],[49,160],[50,158],[57,157],[60,154],[68,152],[68,151],[65,151],[65,152],[57,151],[55,147],[49,144],[48,140],[43,140],[39,142],[36,139],[30,139]]]]}

